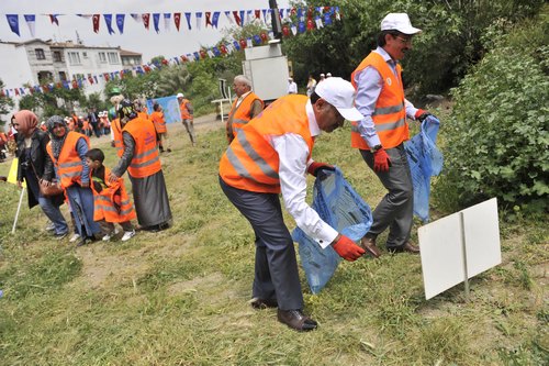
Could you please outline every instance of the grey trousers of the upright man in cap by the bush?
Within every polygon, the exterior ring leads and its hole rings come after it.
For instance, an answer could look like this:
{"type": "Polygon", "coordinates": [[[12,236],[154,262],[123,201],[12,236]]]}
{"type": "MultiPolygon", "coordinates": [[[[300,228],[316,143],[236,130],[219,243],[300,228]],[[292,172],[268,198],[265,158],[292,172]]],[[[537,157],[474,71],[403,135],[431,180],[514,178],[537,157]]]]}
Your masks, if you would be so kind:
{"type": "Polygon", "coordinates": [[[376,237],[389,228],[386,248],[396,248],[406,244],[412,231],[414,215],[414,188],[404,144],[386,148],[391,159],[389,171],[373,170],[373,154],[360,149],[366,164],[376,173],[388,193],[373,211],[373,223],[367,236],[376,237]]]}

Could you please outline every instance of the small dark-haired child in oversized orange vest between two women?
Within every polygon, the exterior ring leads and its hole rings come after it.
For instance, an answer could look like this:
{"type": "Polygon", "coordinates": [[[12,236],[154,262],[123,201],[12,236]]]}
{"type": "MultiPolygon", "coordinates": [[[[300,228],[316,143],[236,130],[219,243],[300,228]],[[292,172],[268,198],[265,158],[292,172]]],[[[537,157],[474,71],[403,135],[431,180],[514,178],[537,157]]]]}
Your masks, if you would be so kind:
{"type": "Polygon", "coordinates": [[[119,233],[114,223],[119,223],[124,230],[123,242],[132,239],[135,229],[131,220],[136,218],[136,213],[126,193],[124,180],[119,178],[113,184],[109,182],[111,170],[103,165],[104,154],[99,148],[89,149],[86,153],[86,162],[91,170],[93,220],[101,226],[103,241],[108,242],[119,233]]]}

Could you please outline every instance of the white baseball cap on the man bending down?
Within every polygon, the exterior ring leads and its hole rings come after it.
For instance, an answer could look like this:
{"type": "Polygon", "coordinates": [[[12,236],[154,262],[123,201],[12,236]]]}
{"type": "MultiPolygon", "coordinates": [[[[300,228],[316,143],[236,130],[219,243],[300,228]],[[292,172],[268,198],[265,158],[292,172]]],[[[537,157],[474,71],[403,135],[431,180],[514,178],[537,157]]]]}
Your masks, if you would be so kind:
{"type": "Polygon", "coordinates": [[[363,118],[362,113],[354,107],[356,92],[349,81],[339,77],[327,78],[318,84],[314,91],[334,106],[347,121],[359,121],[363,118]]]}

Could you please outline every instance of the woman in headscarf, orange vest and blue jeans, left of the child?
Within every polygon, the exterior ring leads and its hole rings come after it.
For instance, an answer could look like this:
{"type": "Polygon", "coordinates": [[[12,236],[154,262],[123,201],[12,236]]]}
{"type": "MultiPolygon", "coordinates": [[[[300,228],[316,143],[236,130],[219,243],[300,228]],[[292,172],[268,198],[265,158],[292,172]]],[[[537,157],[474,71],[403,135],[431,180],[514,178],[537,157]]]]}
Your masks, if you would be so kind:
{"type": "Polygon", "coordinates": [[[91,243],[99,237],[101,229],[93,221],[93,192],[90,188],[90,169],[86,163],[89,138],[68,131],[67,123],[59,115],[51,117],[46,125],[52,136],[47,153],[65,189],[80,235],[77,246],[91,243]]]}

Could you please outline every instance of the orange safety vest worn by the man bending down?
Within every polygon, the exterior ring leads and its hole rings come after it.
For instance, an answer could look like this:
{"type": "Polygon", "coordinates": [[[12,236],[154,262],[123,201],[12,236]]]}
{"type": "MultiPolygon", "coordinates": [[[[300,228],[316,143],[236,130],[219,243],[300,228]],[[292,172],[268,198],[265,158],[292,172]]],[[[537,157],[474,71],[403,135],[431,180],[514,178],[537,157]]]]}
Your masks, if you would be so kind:
{"type": "Polygon", "coordinates": [[[280,193],[280,159],[269,141],[271,136],[299,134],[307,144],[311,158],[314,140],[305,110],[307,100],[300,95],[279,98],[242,127],[221,158],[223,181],[248,191],[280,193]]]}

